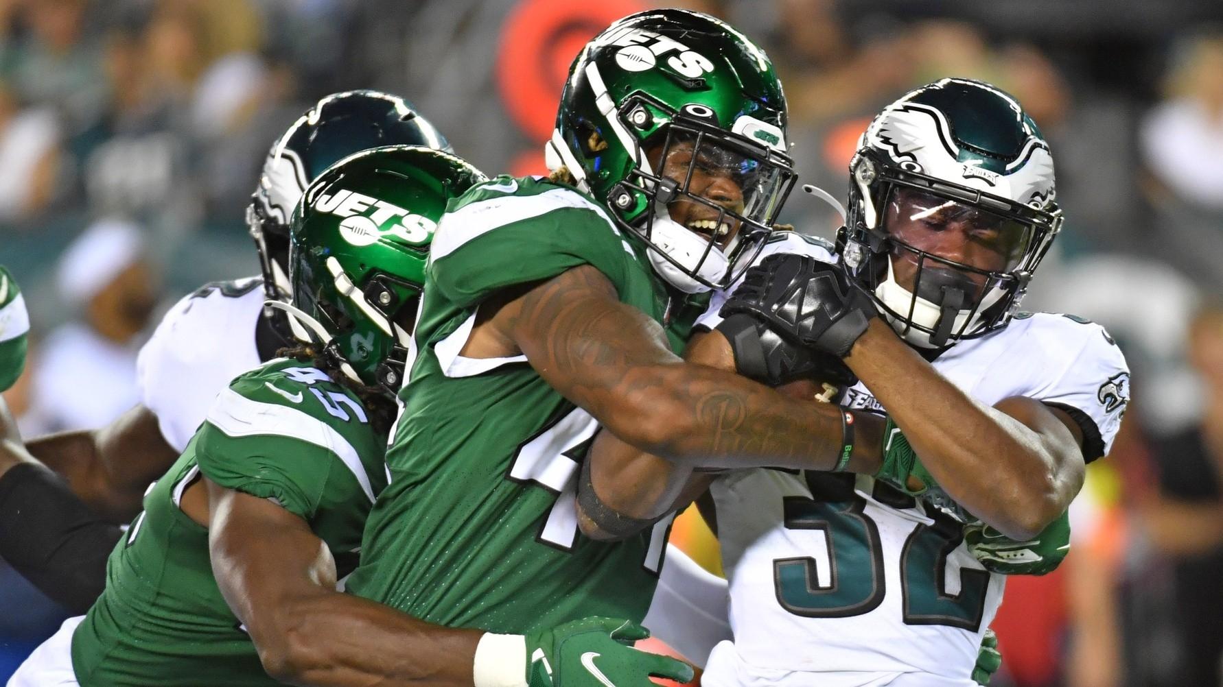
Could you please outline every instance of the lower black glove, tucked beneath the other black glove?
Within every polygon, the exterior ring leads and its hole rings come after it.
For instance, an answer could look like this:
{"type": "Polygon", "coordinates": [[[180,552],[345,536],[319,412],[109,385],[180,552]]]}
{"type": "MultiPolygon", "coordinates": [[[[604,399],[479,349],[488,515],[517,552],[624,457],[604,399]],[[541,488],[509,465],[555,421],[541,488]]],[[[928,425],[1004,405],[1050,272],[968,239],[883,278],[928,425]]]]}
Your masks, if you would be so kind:
{"type": "Polygon", "coordinates": [[[767,386],[799,379],[852,386],[857,378],[840,358],[785,339],[747,313],[730,315],[717,330],[730,341],[739,374],[767,386]]]}

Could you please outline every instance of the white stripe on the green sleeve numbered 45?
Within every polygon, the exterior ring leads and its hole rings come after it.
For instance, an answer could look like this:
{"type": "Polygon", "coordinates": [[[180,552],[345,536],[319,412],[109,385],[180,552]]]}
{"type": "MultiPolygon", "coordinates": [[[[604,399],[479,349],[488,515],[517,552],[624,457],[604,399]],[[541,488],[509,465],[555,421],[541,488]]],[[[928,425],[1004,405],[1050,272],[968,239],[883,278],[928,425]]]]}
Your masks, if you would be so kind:
{"type": "Polygon", "coordinates": [[[252,401],[232,389],[226,389],[216,396],[207,419],[209,424],[232,439],[270,434],[327,449],[344,462],[369,501],[374,500],[369,476],[366,474],[366,467],[361,463],[361,456],[352,444],[327,423],[297,408],[252,401]]]}

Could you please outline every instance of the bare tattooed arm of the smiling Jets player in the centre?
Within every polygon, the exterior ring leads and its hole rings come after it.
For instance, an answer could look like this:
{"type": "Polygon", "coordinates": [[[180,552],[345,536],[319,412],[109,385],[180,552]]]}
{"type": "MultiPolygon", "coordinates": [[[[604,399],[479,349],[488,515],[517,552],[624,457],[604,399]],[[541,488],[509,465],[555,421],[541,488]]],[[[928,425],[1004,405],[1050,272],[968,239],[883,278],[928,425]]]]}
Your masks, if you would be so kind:
{"type": "MultiPolygon", "coordinates": [[[[570,269],[488,306],[465,356],[525,353],[548,384],[637,451],[681,469],[835,465],[837,408],[685,363],[667,347],[662,326],[620,303],[593,266],[570,269]]],[[[878,456],[882,432],[862,434],[876,435],[874,449],[855,451],[854,458],[877,461],[867,456],[878,456]]]]}

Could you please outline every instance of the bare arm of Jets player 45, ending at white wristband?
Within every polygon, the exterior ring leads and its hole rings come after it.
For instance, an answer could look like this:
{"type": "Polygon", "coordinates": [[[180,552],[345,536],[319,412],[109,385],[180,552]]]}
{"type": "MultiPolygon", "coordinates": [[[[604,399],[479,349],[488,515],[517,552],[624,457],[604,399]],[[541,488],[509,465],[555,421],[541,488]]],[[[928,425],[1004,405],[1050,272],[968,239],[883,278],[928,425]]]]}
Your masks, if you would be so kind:
{"type": "Polygon", "coordinates": [[[482,632],[422,622],[335,590],[303,520],[207,480],[213,573],[272,677],[289,685],[471,686],[482,632]]]}

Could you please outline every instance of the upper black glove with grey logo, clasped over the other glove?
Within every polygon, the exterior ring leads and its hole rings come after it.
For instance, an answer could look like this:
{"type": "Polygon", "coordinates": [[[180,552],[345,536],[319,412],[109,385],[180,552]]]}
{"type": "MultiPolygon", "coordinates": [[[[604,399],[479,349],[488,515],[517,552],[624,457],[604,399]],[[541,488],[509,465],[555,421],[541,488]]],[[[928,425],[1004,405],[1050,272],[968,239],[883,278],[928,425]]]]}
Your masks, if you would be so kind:
{"type": "Polygon", "coordinates": [[[840,265],[778,253],[747,270],[720,314],[751,315],[783,337],[844,358],[878,310],[840,265]]]}

